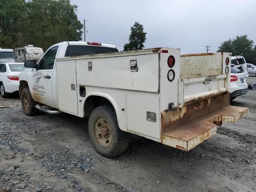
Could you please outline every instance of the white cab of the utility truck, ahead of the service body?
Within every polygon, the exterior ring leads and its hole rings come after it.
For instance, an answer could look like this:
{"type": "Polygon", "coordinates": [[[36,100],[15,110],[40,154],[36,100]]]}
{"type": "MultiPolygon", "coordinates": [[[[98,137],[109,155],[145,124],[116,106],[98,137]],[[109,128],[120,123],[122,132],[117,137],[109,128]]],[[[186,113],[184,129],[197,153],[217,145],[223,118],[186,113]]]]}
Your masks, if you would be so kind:
{"type": "Polygon", "coordinates": [[[114,45],[94,42],[60,42],[54,44],[46,50],[36,63],[35,68],[27,68],[22,71],[20,88],[28,84],[36,102],[58,108],[56,59],[108,52],[119,52],[119,49],[114,45]]]}

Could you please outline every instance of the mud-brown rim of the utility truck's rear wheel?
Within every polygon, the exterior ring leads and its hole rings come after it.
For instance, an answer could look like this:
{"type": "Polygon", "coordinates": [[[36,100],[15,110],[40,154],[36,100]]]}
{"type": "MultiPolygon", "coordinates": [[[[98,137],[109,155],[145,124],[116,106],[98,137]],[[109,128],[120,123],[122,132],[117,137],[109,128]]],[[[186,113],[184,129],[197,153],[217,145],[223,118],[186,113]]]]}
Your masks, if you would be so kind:
{"type": "Polygon", "coordinates": [[[94,132],[97,141],[104,147],[110,145],[112,140],[112,134],[110,126],[104,118],[98,118],[94,124],[94,132]]]}

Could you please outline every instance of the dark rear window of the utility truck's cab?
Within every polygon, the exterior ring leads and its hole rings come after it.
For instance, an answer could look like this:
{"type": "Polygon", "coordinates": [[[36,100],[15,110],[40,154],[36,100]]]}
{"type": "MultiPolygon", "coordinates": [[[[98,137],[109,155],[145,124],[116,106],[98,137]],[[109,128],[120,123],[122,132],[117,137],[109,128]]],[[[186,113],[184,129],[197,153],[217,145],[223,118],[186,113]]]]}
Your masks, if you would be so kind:
{"type": "Polygon", "coordinates": [[[101,46],[87,46],[87,45],[69,45],[66,50],[65,57],[80,56],[100,53],[118,52],[117,48],[101,47],[101,46]]]}

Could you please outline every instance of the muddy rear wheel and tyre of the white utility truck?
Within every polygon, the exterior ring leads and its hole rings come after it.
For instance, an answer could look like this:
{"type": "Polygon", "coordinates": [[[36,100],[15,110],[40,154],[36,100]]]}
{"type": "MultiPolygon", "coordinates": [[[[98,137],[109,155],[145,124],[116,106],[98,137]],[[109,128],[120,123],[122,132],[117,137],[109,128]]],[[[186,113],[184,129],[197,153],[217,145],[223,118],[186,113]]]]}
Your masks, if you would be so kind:
{"type": "Polygon", "coordinates": [[[95,108],[90,114],[88,129],[94,148],[105,157],[117,156],[129,145],[129,135],[118,127],[112,106],[95,108]]]}

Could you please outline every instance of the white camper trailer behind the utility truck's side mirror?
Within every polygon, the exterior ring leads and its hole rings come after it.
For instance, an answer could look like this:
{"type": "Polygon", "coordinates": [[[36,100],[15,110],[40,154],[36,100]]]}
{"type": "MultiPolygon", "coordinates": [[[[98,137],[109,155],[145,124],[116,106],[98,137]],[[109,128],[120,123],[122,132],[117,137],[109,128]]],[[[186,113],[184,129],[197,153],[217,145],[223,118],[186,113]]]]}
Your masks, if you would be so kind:
{"type": "Polygon", "coordinates": [[[25,62],[25,60],[35,60],[38,61],[44,54],[44,51],[40,47],[34,47],[33,45],[28,45],[20,48],[14,49],[15,61],[25,62]]]}

